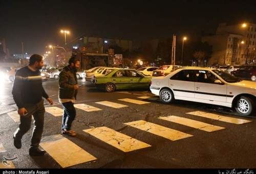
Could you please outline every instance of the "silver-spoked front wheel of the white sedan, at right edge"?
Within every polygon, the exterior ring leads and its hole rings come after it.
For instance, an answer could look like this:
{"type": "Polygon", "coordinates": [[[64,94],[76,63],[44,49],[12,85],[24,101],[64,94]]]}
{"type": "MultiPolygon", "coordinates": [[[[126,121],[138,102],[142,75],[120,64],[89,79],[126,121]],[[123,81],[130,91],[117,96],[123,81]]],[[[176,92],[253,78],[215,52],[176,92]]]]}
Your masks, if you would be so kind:
{"type": "Polygon", "coordinates": [[[236,103],[236,111],[243,116],[249,116],[254,110],[254,102],[251,98],[242,96],[236,103]]]}

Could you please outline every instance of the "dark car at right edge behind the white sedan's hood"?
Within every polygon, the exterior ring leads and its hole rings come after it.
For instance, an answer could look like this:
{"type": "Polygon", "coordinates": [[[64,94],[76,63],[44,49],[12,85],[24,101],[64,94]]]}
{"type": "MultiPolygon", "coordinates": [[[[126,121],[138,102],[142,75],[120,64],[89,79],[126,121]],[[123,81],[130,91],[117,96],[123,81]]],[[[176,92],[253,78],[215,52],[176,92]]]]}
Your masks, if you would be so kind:
{"type": "Polygon", "coordinates": [[[239,70],[231,74],[242,79],[256,81],[256,66],[241,66],[239,70]]]}

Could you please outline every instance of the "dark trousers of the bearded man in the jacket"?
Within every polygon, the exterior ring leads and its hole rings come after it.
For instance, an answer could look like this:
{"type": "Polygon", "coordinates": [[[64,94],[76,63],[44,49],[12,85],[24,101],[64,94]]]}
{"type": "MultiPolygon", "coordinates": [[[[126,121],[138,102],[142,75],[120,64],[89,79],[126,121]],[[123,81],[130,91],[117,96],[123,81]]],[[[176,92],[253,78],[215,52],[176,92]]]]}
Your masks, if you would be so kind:
{"type": "Polygon", "coordinates": [[[74,103],[69,101],[62,103],[64,112],[62,116],[62,130],[70,130],[71,124],[75,120],[76,117],[76,109],[74,107],[74,103]]]}

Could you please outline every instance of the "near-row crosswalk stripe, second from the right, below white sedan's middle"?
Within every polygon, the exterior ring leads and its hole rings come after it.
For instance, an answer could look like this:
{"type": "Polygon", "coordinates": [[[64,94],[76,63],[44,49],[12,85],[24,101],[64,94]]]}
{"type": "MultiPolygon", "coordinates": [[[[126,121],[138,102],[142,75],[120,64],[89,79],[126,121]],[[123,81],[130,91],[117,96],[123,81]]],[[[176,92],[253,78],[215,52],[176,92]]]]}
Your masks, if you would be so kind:
{"type": "Polygon", "coordinates": [[[197,128],[200,130],[204,130],[206,132],[214,132],[216,130],[221,130],[225,128],[225,127],[220,127],[220,126],[204,123],[201,121],[191,120],[191,119],[177,117],[177,116],[159,117],[159,119],[197,128]]]}

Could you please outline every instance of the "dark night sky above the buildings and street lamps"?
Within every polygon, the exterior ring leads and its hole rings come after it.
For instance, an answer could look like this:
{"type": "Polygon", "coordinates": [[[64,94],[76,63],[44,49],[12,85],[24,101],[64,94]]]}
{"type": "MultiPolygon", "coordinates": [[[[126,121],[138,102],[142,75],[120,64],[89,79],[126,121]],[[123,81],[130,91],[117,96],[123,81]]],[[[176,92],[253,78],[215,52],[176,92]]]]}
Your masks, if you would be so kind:
{"type": "Polygon", "coordinates": [[[4,1],[0,0],[0,38],[10,52],[42,54],[49,44],[81,36],[151,39],[214,33],[219,23],[256,23],[256,1],[4,1]]]}

